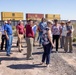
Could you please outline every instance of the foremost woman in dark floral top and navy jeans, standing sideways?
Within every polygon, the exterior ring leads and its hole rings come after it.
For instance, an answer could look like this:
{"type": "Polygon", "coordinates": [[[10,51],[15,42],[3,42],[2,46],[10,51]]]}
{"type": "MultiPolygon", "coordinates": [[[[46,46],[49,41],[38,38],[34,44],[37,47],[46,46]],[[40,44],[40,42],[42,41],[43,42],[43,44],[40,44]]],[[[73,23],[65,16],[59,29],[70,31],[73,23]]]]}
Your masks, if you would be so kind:
{"type": "Polygon", "coordinates": [[[43,64],[46,60],[46,66],[49,66],[50,63],[50,53],[54,44],[52,42],[52,33],[51,33],[51,26],[52,22],[47,22],[47,27],[43,30],[42,34],[42,45],[43,45],[43,56],[42,56],[42,63],[43,64]]]}

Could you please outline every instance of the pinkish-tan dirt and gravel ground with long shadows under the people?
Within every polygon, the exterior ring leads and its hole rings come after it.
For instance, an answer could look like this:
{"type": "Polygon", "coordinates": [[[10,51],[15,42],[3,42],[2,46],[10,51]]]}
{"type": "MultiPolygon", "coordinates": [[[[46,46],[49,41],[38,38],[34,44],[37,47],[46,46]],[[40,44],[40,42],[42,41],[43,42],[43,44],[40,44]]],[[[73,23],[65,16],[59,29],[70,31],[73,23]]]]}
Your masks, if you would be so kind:
{"type": "Polygon", "coordinates": [[[45,64],[40,65],[42,48],[39,46],[34,47],[34,60],[26,60],[26,43],[23,43],[24,50],[19,53],[16,41],[17,39],[14,38],[10,57],[6,56],[5,51],[0,51],[0,75],[76,75],[75,44],[73,53],[64,53],[63,49],[59,49],[59,53],[55,53],[55,49],[53,49],[50,67],[47,68],[45,64]]]}

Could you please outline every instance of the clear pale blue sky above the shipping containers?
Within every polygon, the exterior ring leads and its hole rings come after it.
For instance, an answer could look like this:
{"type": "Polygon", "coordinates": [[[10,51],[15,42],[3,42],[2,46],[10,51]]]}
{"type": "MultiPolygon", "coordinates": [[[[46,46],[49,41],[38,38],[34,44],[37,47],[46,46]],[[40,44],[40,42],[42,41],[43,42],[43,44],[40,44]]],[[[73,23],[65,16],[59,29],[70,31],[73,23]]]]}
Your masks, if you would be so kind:
{"type": "MultiPolygon", "coordinates": [[[[60,14],[61,19],[76,19],[76,0],[0,0],[0,12],[60,14]]],[[[25,18],[25,17],[24,17],[25,18]]]]}

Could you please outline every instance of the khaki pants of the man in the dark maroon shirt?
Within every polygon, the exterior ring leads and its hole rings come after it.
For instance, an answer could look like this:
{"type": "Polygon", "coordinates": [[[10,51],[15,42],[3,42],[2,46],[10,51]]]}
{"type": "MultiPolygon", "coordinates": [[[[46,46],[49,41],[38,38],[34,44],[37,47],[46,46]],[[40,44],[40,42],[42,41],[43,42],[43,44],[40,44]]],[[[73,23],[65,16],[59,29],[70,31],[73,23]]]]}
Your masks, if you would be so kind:
{"type": "Polygon", "coordinates": [[[27,58],[32,57],[32,51],[33,51],[33,38],[26,38],[27,42],[27,58]]]}

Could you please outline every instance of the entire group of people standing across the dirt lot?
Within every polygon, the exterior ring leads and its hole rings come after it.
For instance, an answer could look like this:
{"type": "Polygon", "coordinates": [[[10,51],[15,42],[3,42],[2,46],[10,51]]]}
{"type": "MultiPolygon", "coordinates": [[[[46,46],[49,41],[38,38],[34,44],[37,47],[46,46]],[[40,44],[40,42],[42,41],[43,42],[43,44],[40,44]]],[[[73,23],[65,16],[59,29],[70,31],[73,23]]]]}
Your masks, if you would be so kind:
{"type": "MultiPolygon", "coordinates": [[[[4,21],[4,25],[2,25],[0,31],[2,32],[1,50],[3,50],[5,41],[5,50],[7,53],[6,55],[10,56],[13,39],[11,22],[4,21]]],[[[32,19],[30,19],[27,21],[27,24],[25,26],[20,20],[18,25],[16,25],[18,50],[19,52],[22,52],[22,39],[25,36],[25,40],[27,43],[26,59],[32,60],[33,46],[35,46],[35,38],[37,37],[36,32],[38,32],[37,41],[39,41],[39,46],[42,45],[44,49],[41,64],[43,64],[46,60],[46,66],[49,66],[50,53],[54,47],[56,47],[56,53],[58,53],[59,41],[60,47],[64,49],[65,53],[68,52],[68,50],[69,53],[72,53],[73,31],[74,28],[70,20],[68,20],[67,22],[61,21],[59,23],[57,19],[55,19],[54,21],[50,21],[42,18],[41,22],[39,23],[38,21],[33,21],[32,19]]]]}

